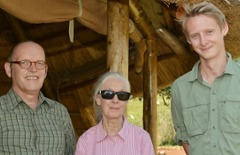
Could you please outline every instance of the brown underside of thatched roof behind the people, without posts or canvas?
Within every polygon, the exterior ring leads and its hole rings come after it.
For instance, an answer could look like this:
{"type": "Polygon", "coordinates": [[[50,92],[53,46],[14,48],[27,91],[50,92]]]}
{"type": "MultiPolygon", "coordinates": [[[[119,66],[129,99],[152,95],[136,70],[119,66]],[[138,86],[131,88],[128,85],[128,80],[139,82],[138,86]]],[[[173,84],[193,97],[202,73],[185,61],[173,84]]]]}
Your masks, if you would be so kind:
{"type": "MultiPolygon", "coordinates": [[[[82,0],[82,2],[89,3],[93,1],[97,0],[82,0]]],[[[130,0],[130,2],[132,1],[136,0],[130,0]]],[[[20,14],[22,16],[18,17],[18,12],[14,14],[4,9],[5,5],[2,3],[5,2],[7,1],[0,0],[0,66],[2,66],[0,68],[0,94],[6,93],[11,87],[11,79],[7,78],[3,69],[11,48],[23,40],[38,42],[46,50],[49,65],[49,73],[42,91],[46,96],[60,101],[68,108],[76,133],[80,135],[95,123],[91,100],[92,86],[95,79],[108,70],[107,34],[105,34],[106,27],[103,26],[106,21],[105,16],[103,16],[104,12],[92,11],[93,14],[91,14],[91,10],[86,13],[86,10],[83,9],[81,17],[74,17],[74,42],[72,43],[69,39],[68,20],[58,18],[61,20],[31,23],[30,21],[33,19],[29,19],[29,21],[22,19],[25,17],[24,14],[20,14]],[[99,22],[102,22],[101,25],[96,25],[99,22]]],[[[171,2],[168,4],[176,6],[173,2],[182,5],[187,1],[168,2],[171,2]]],[[[237,29],[240,24],[237,20],[240,13],[238,6],[230,1],[230,4],[228,1],[222,0],[213,2],[224,9],[227,14],[230,26],[229,35],[226,37],[227,49],[236,57],[240,51],[237,38],[240,33],[237,29]]],[[[103,1],[98,1],[98,3],[101,3],[98,6],[106,5],[104,4],[106,2],[103,1]]],[[[146,15],[146,18],[141,19],[132,13],[133,8],[131,7],[133,6],[130,6],[130,19],[142,33],[143,40],[147,39],[144,33],[148,32],[149,29],[156,30],[157,85],[158,89],[161,89],[170,86],[177,77],[189,71],[198,57],[186,43],[181,28],[174,21],[174,9],[169,8],[159,0],[140,0],[139,4],[141,5],[136,8],[140,8],[141,10],[138,11],[146,15]],[[142,26],[141,20],[149,22],[151,28],[142,26]]],[[[9,5],[11,6],[11,4],[9,5]]],[[[89,9],[89,6],[85,7],[89,9]]],[[[77,7],[74,9],[75,12],[69,13],[68,16],[72,17],[78,13],[77,7]]],[[[141,64],[137,56],[138,50],[143,47],[141,43],[134,39],[129,40],[128,77],[134,96],[141,96],[144,91],[142,86],[144,75],[141,70],[136,71],[136,64],[141,64]]]]}

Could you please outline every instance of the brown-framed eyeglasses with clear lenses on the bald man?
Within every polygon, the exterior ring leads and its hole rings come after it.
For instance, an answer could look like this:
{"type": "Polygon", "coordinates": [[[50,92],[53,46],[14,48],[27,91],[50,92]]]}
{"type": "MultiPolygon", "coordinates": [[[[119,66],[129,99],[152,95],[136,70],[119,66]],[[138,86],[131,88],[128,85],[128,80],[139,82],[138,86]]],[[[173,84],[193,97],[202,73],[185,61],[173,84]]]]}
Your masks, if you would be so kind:
{"type": "Polygon", "coordinates": [[[21,60],[21,61],[8,61],[10,64],[18,64],[22,69],[28,69],[32,66],[32,64],[35,65],[37,69],[44,69],[47,64],[43,60],[38,61],[30,61],[30,60],[21,60]]]}

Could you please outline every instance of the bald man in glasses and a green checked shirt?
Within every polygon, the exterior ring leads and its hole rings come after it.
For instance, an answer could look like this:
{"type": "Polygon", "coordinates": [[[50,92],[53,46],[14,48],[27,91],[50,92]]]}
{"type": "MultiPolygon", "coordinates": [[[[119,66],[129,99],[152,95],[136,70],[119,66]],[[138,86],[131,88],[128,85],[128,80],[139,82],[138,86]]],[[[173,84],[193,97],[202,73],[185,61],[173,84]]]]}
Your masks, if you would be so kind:
{"type": "Polygon", "coordinates": [[[44,49],[33,41],[19,43],[4,68],[12,87],[0,97],[0,154],[73,155],[67,109],[40,91],[48,70],[44,49]]]}

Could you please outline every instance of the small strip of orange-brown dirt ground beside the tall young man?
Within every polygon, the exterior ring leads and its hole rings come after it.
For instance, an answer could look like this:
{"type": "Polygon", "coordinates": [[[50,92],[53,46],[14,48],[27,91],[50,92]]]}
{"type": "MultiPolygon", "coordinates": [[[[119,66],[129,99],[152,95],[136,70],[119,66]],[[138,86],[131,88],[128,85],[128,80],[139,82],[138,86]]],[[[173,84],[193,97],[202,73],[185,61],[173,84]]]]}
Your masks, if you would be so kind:
{"type": "Polygon", "coordinates": [[[157,155],[186,155],[182,147],[159,147],[157,155]]]}

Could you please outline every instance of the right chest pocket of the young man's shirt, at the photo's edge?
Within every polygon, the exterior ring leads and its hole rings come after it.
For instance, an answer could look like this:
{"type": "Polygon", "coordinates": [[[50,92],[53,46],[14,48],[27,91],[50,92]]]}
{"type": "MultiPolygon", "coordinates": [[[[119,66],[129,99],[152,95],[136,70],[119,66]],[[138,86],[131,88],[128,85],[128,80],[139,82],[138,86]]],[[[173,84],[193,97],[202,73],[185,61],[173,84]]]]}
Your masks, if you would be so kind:
{"type": "Polygon", "coordinates": [[[220,101],[222,131],[240,133],[240,97],[228,95],[220,101]]]}

